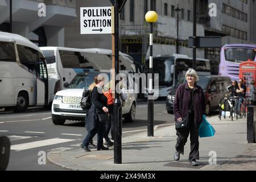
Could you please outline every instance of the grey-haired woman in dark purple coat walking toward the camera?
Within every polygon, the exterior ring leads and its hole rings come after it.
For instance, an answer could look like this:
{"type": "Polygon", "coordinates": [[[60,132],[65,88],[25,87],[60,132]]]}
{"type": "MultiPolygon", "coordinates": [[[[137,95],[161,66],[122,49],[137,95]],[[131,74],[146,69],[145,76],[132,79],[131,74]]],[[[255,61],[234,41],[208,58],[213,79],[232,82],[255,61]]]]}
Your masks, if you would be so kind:
{"type": "Polygon", "coordinates": [[[187,82],[181,84],[176,91],[174,101],[175,122],[182,121],[188,115],[188,126],[177,130],[177,143],[174,160],[180,159],[180,154],[184,155],[184,146],[190,133],[191,152],[189,162],[192,166],[197,166],[196,159],[199,159],[199,126],[205,115],[205,97],[203,89],[196,84],[199,77],[195,70],[189,69],[185,75],[187,82]]]}

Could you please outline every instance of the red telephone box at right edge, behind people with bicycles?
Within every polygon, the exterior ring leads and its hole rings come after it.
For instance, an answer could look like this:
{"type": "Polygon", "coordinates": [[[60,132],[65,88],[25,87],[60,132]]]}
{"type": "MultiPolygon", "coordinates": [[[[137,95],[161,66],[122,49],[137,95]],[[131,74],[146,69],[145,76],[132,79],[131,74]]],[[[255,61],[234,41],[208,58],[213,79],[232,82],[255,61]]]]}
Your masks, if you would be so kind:
{"type": "Polygon", "coordinates": [[[256,62],[249,60],[241,63],[239,69],[239,78],[243,78],[246,85],[246,96],[249,96],[250,82],[251,80],[256,81],[256,62]]]}

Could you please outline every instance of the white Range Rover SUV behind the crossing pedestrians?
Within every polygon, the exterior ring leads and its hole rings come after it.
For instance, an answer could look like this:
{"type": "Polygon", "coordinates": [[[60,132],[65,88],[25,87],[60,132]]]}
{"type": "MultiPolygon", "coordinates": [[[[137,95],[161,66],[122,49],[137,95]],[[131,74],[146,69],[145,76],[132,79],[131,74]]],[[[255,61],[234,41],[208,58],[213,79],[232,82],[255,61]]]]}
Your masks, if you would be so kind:
{"type": "MultiPolygon", "coordinates": [[[[63,125],[65,121],[84,121],[86,110],[82,110],[80,101],[82,92],[88,89],[93,83],[94,76],[103,72],[84,72],[77,74],[70,83],[65,83],[65,90],[60,90],[55,94],[52,103],[52,122],[55,125],[63,125]]],[[[108,74],[110,78],[110,73],[108,74]]],[[[129,91],[129,90],[127,90],[129,91]]],[[[122,107],[122,117],[126,122],[135,121],[136,99],[134,93],[127,93],[125,105],[122,107]]]]}

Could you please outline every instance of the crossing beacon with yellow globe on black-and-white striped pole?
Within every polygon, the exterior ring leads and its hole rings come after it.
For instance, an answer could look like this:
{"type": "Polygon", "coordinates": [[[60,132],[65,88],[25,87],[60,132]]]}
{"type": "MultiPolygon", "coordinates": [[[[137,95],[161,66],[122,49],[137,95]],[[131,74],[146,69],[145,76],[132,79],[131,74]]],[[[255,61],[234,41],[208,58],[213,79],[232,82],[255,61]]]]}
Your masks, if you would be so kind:
{"type": "Polygon", "coordinates": [[[158,20],[158,14],[155,11],[148,11],[145,19],[150,23],[150,63],[149,63],[149,86],[148,86],[148,110],[147,110],[147,136],[154,137],[154,90],[153,90],[153,23],[158,20]]]}

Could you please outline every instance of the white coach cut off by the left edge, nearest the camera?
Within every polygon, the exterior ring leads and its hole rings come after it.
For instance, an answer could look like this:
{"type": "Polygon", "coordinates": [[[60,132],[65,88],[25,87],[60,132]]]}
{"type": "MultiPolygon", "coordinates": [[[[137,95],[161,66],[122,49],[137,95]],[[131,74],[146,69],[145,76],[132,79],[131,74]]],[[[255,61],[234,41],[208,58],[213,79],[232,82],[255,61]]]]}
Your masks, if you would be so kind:
{"type": "Polygon", "coordinates": [[[48,95],[43,52],[23,36],[0,32],[0,107],[47,106],[48,95]]]}

